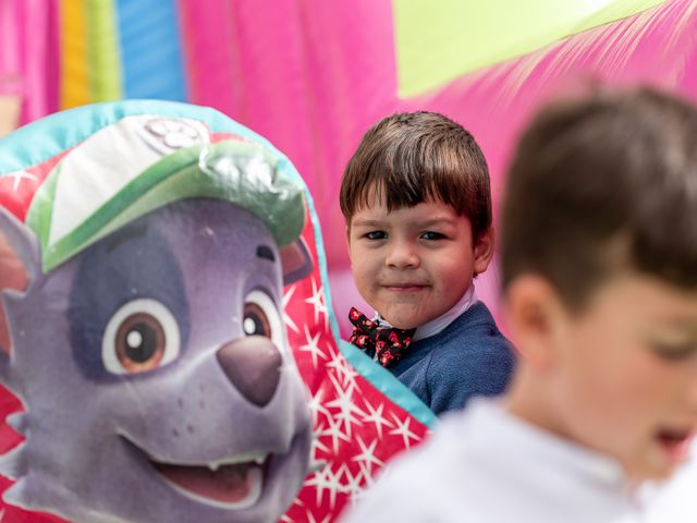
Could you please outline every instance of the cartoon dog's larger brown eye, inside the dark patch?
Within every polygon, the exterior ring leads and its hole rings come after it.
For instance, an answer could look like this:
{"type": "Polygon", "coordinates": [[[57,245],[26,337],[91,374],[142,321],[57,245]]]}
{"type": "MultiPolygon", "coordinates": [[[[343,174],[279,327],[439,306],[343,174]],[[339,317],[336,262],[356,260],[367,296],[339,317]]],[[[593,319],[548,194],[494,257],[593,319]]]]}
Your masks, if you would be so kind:
{"type": "Polygon", "coordinates": [[[172,313],[155,300],[134,300],[107,323],[101,342],[105,368],[135,374],[166,365],[176,357],[180,335],[172,313]]]}

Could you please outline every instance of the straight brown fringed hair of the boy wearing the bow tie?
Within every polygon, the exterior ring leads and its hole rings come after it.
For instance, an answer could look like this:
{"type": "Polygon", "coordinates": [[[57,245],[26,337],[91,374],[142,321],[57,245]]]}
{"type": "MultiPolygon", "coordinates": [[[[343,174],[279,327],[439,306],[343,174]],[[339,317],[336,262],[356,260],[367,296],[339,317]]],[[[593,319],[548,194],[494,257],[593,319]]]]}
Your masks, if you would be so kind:
{"type": "Polygon", "coordinates": [[[364,135],[341,181],[346,223],[374,195],[388,210],[441,200],[470,220],[475,241],[491,227],[487,160],[468,131],[437,112],[392,114],[364,135]]]}

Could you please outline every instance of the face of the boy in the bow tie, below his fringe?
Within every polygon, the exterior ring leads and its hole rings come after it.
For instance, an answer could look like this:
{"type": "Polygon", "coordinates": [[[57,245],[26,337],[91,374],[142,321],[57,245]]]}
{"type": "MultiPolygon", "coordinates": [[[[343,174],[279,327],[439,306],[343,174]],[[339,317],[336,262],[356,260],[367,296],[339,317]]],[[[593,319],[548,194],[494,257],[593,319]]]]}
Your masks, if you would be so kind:
{"type": "Polygon", "coordinates": [[[358,292],[394,327],[408,329],[450,309],[491,258],[491,232],[474,246],[469,219],[442,202],[356,211],[346,235],[358,292]]]}

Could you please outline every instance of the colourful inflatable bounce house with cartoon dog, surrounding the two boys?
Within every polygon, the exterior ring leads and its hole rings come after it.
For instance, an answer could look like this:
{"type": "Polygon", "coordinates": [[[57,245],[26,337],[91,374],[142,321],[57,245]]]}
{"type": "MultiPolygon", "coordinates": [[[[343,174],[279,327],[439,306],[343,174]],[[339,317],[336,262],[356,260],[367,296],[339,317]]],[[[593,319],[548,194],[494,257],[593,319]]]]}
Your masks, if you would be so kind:
{"type": "Polygon", "coordinates": [[[696,32],[692,0],[0,1],[0,521],[339,519],[438,423],[343,341],[363,133],[463,123],[496,211],[540,102],[696,100],[696,32]]]}

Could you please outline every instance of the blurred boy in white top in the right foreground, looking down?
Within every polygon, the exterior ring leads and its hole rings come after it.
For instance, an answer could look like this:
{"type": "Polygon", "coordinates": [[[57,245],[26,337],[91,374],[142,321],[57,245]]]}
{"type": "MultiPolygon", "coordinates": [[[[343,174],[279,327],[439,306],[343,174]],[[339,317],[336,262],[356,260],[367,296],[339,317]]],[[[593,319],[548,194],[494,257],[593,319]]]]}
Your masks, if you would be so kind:
{"type": "Polygon", "coordinates": [[[506,186],[503,289],[522,353],[510,391],[447,419],[350,521],[634,521],[637,485],[685,458],[697,109],[650,89],[550,106],[506,186]]]}

